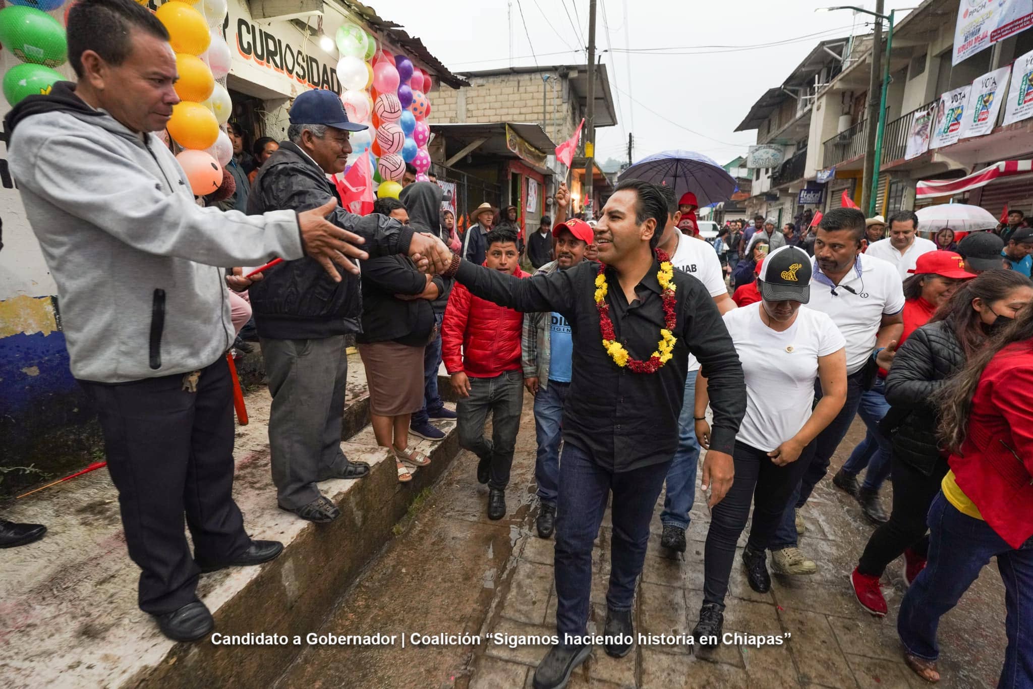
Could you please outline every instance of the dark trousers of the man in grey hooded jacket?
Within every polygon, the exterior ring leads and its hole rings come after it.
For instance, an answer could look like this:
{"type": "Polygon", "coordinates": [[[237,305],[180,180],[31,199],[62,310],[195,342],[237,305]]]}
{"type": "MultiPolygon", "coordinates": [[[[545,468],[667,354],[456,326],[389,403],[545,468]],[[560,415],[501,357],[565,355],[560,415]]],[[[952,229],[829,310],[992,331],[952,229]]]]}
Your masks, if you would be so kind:
{"type": "Polygon", "coordinates": [[[226,359],[196,392],[182,374],[105,384],[81,380],[104,434],[129,557],[140,568],[139,607],[169,613],[197,599],[198,560],[225,562],[250,544],[233,502],[233,399],[226,359]]]}

